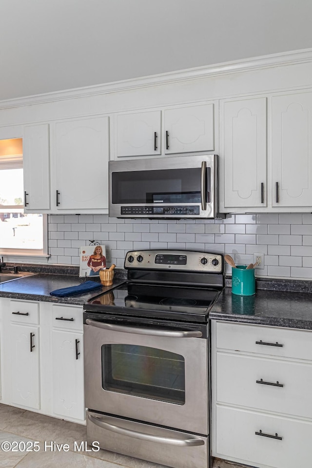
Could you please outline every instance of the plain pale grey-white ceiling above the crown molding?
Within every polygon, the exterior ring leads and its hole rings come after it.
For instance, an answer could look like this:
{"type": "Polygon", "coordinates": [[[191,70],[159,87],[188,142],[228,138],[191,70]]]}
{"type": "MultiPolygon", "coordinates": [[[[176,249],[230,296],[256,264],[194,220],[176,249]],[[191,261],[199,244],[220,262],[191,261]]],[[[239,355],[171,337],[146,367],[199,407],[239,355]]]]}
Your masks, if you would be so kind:
{"type": "Polygon", "coordinates": [[[0,100],[312,47],[311,0],[0,0],[0,100]]]}

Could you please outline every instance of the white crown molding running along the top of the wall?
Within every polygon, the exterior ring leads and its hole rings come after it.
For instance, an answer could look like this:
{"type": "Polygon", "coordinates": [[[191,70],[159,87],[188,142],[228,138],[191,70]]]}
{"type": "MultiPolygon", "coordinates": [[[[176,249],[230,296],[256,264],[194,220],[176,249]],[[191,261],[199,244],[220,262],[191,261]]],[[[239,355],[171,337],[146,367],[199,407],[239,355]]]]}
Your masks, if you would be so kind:
{"type": "Polygon", "coordinates": [[[85,86],[81,88],[55,91],[52,93],[26,96],[23,98],[0,101],[0,109],[41,104],[70,98],[82,98],[108,93],[117,93],[135,88],[146,88],[161,84],[170,84],[190,79],[210,78],[230,73],[245,72],[256,69],[288,66],[312,61],[312,48],[282,52],[250,59],[233,60],[203,67],[189,68],[176,72],[161,73],[148,77],[131,78],[110,83],[85,86]]]}

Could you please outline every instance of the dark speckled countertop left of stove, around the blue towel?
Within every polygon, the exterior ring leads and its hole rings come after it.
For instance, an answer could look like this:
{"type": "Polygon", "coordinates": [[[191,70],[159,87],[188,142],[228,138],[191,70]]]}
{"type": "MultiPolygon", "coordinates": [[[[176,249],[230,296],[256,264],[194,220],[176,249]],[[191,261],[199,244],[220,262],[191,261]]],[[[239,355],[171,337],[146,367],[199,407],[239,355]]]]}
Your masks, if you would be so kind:
{"type": "Polygon", "coordinates": [[[87,280],[98,282],[100,287],[91,292],[75,294],[73,296],[57,297],[51,296],[50,292],[56,289],[78,286],[80,283],[83,283],[84,278],[79,278],[78,275],[74,274],[36,273],[31,276],[1,283],[0,297],[82,305],[100,292],[106,292],[125,281],[124,278],[117,276],[114,277],[113,286],[101,286],[99,278],[88,277],[87,280]]]}

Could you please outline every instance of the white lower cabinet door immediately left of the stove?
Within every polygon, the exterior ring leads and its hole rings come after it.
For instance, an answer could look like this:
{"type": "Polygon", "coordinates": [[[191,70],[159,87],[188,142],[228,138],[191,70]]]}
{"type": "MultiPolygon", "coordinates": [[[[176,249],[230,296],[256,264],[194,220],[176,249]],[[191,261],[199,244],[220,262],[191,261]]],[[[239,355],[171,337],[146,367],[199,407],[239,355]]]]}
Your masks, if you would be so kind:
{"type": "Polygon", "coordinates": [[[83,382],[83,334],[52,331],[53,413],[85,419],[83,382]]]}

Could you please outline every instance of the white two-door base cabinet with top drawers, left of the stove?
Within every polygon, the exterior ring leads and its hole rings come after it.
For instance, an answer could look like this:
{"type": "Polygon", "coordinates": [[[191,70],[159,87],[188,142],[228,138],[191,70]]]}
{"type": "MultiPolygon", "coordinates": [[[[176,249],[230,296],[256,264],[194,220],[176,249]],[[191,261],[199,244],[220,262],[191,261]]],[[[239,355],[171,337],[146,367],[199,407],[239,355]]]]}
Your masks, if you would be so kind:
{"type": "Polygon", "coordinates": [[[0,298],[1,403],[85,424],[82,307],[0,298]]]}

